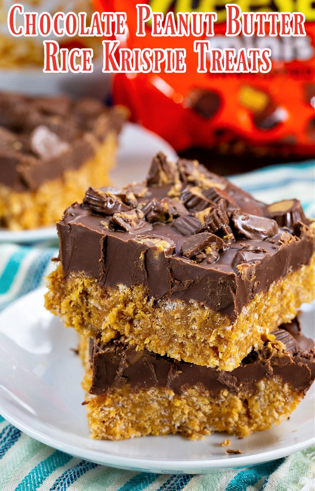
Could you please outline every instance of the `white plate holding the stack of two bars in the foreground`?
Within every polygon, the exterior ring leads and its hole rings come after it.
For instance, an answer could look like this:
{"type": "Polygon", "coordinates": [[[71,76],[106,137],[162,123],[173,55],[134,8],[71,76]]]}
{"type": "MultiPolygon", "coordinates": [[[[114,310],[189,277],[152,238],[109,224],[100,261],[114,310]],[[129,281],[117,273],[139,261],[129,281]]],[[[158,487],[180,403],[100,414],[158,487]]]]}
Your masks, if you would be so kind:
{"type": "MultiPolygon", "coordinates": [[[[164,473],[249,466],[313,443],[314,385],[280,426],[241,440],[229,436],[230,448],[239,448],[240,455],[229,455],[220,446],[227,437],[222,433],[196,441],[179,435],[92,440],[81,406],[83,369],[70,350],[77,346],[77,334],[45,310],[44,291],[31,292],[0,314],[0,414],[27,435],[98,464],[164,473]]],[[[314,304],[304,308],[300,320],[312,336],[314,304]]]]}

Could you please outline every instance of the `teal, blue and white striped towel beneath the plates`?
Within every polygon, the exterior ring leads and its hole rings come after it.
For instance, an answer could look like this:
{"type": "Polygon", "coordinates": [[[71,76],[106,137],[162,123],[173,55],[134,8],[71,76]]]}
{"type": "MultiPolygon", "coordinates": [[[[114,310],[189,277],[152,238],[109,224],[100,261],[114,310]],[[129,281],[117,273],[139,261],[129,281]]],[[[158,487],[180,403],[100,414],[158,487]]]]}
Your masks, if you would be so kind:
{"type": "MultiPolygon", "coordinates": [[[[314,217],[314,163],[279,165],[233,176],[266,202],[292,196],[314,217]]],[[[0,309],[44,284],[54,246],[0,245],[0,309]]],[[[248,469],[208,475],[159,475],[100,466],[54,450],[0,417],[0,491],[313,491],[315,448],[248,469]]]]}

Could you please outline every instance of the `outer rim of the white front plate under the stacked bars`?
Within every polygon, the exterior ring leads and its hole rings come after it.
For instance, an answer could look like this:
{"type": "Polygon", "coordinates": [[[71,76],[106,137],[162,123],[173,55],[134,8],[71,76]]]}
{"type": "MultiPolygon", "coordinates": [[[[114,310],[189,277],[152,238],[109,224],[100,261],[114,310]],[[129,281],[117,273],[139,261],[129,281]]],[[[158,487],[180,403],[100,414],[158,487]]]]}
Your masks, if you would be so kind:
{"type": "MultiPolygon", "coordinates": [[[[6,311],[14,306],[17,302],[25,300],[27,297],[34,296],[42,298],[44,293],[47,292],[47,288],[41,286],[36,288],[26,295],[19,297],[18,299],[11,302],[7,307],[5,307],[0,312],[0,321],[2,316],[6,311]]],[[[53,314],[52,314],[53,315],[53,314]]],[[[7,400],[9,403],[9,399],[7,400]]],[[[0,414],[1,416],[11,423],[13,426],[18,428],[20,431],[26,435],[46,444],[50,447],[58,449],[62,452],[68,453],[75,457],[86,459],[92,462],[96,462],[101,465],[108,465],[111,467],[122,468],[127,470],[139,470],[145,472],[157,472],[157,473],[186,473],[187,468],[194,468],[193,474],[204,474],[207,471],[211,472],[215,469],[228,469],[235,467],[248,467],[255,464],[263,464],[265,462],[273,461],[283,457],[287,457],[295,452],[304,450],[315,443],[315,437],[311,436],[303,442],[294,442],[285,447],[267,450],[264,452],[258,452],[253,455],[238,455],[238,456],[224,456],[219,459],[207,459],[207,460],[160,460],[160,459],[146,459],[140,457],[124,457],[118,456],[117,454],[110,454],[107,450],[102,451],[101,449],[89,449],[84,448],[81,445],[75,445],[73,443],[67,443],[66,441],[60,440],[60,437],[50,435],[53,432],[60,432],[56,426],[51,426],[51,431],[49,431],[49,425],[42,422],[40,419],[36,419],[41,423],[43,427],[48,428],[48,432],[45,433],[41,429],[36,429],[36,427],[31,426],[29,423],[23,422],[23,420],[17,414],[10,414],[6,409],[6,403],[4,399],[0,399],[0,414]],[[103,456],[103,458],[102,458],[103,456]],[[162,469],[162,470],[161,470],[162,469]],[[177,469],[177,471],[174,471],[177,469]]],[[[156,436],[158,438],[158,436],[156,436]]],[[[143,437],[145,438],[145,437],[143,437]]],[[[92,440],[91,440],[92,441],[92,440]]]]}

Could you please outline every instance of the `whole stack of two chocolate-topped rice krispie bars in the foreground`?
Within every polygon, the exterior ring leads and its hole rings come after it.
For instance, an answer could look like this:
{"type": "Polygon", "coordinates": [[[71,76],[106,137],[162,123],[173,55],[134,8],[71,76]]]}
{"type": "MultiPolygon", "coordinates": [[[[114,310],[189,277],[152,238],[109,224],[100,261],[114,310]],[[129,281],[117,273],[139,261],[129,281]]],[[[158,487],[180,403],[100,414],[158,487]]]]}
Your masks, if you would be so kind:
{"type": "Polygon", "coordinates": [[[196,161],[89,188],[57,223],[46,307],[80,333],[92,436],[241,436],[286,419],[315,378],[296,317],[314,225],[196,161]],[[292,322],[290,322],[292,321],[292,322]]]}

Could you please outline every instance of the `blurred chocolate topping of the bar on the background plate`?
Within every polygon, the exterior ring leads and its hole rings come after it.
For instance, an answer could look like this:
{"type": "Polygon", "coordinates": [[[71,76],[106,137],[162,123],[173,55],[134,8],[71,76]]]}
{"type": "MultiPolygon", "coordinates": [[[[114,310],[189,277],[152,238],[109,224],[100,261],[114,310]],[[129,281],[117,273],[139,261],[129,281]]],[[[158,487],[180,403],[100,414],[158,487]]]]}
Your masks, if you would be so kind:
{"type": "Polygon", "coordinates": [[[123,121],[122,110],[93,98],[0,93],[0,184],[32,191],[79,168],[123,121]]]}

